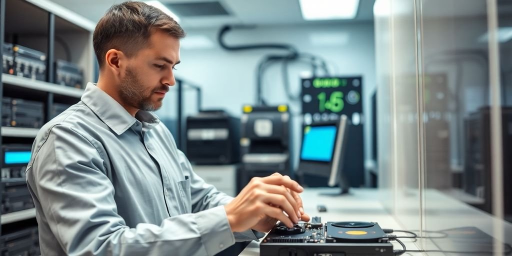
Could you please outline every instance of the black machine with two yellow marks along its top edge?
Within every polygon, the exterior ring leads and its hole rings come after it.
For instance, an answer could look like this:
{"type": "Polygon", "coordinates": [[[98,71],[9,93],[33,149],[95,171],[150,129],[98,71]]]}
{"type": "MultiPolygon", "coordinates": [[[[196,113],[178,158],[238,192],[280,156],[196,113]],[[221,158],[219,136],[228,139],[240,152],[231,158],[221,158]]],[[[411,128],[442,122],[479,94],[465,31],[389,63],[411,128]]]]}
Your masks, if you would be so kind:
{"type": "Polygon", "coordinates": [[[241,157],[245,171],[290,174],[290,114],[287,105],[245,105],[241,157]]]}

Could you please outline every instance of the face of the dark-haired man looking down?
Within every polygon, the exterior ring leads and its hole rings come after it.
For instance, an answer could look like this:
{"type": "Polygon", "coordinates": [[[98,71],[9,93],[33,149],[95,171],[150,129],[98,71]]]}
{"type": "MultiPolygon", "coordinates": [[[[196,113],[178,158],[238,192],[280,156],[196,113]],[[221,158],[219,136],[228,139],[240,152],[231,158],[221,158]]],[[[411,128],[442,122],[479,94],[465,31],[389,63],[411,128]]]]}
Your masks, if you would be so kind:
{"type": "Polygon", "coordinates": [[[169,87],[176,83],[173,69],[180,62],[179,48],[178,38],[155,31],[125,68],[119,87],[122,102],[139,110],[160,109],[169,87]]]}

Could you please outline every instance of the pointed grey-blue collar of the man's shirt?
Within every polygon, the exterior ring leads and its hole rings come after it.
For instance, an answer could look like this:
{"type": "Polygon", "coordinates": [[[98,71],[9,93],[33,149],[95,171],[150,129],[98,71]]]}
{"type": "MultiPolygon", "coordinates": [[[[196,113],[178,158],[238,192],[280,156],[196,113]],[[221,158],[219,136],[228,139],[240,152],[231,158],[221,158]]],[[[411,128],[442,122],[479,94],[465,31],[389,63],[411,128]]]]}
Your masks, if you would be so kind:
{"type": "Polygon", "coordinates": [[[123,134],[138,120],[144,126],[147,125],[148,129],[160,122],[155,114],[143,110],[139,110],[134,118],[119,102],[96,87],[95,83],[87,84],[81,100],[117,135],[123,134]]]}

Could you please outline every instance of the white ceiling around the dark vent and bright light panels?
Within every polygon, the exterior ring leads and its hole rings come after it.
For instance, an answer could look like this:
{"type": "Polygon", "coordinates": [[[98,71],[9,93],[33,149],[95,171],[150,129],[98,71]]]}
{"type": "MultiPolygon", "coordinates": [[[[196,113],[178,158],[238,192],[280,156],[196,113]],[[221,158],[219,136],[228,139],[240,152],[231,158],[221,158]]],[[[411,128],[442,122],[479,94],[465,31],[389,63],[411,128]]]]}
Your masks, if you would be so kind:
{"type": "MultiPolygon", "coordinates": [[[[52,0],[96,23],[109,7],[124,0],[52,0]]],[[[160,0],[166,3],[215,2],[216,0],[160,0]]],[[[323,23],[370,22],[373,20],[375,0],[360,0],[358,13],[353,20],[305,21],[298,0],[218,0],[230,13],[223,16],[183,17],[184,28],[211,28],[226,24],[244,25],[301,25],[323,23]]]]}

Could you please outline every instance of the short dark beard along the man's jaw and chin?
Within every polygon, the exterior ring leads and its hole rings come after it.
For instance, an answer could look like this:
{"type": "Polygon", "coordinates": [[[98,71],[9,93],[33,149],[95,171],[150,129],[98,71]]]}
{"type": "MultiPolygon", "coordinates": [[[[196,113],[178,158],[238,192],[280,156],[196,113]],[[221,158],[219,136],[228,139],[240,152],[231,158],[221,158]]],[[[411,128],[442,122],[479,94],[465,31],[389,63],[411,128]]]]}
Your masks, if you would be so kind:
{"type": "Polygon", "coordinates": [[[119,89],[119,96],[124,104],[144,111],[159,110],[162,106],[163,98],[153,100],[152,96],[156,91],[167,92],[169,90],[167,86],[146,89],[131,68],[126,68],[126,75],[121,81],[119,89]]]}

